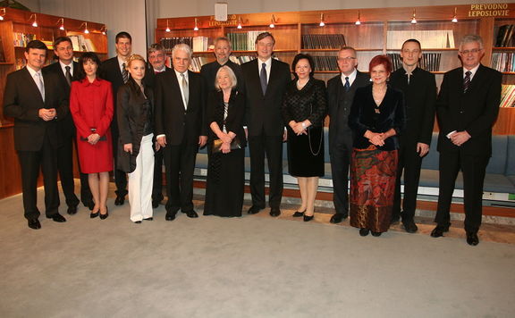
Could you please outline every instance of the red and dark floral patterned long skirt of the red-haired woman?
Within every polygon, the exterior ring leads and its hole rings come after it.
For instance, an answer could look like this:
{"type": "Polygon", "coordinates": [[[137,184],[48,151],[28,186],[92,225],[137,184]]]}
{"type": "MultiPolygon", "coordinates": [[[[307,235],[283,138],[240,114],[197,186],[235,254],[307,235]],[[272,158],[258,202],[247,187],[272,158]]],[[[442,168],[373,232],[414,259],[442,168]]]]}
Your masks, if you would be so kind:
{"type": "Polygon", "coordinates": [[[352,151],[350,163],[350,225],[385,232],[392,221],[397,150],[376,146],[352,151]]]}

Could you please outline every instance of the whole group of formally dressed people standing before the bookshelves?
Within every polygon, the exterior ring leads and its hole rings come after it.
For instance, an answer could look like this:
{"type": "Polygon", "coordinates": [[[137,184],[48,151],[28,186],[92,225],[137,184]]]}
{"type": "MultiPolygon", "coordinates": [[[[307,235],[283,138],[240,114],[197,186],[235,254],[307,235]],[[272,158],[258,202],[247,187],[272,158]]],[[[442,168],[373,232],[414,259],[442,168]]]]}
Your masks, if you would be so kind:
{"type": "Polygon", "coordinates": [[[14,118],[29,227],[40,228],[40,166],[46,217],[65,222],[58,213],[57,172],[68,213],[77,212],[73,140],[80,158],[80,197],[90,217],[108,216],[109,172],[114,170],[114,203],[123,205],[128,193],[135,223],[152,220],[153,208],[164,199],[163,163],[165,219],[173,221],[179,211],[198,217],[192,203],[193,172],[203,146],[208,156],[205,215],[241,216],[246,146],[252,198],[248,213],[266,207],[267,166],[270,215],[280,215],[286,141],[288,171],[297,178],[301,197],[293,216],[308,222],[315,212],[318,179],[325,174],[328,114],[335,208],[331,222],[350,217],[361,236],[380,236],[401,220],[404,230],[413,233],[418,230],[414,214],[420,167],[436,113],[440,193],[431,236],[449,230],[452,191],[461,171],[467,242],[478,244],[485,167],[501,95],[501,74],[480,63],[480,37],[462,39],[463,67],[445,73],[438,95],[435,75],[418,67],[422,48],[416,39],[401,47],[397,71],[385,55],[370,61],[368,74],[357,71],[356,50],[342,47],[337,56],[341,72],[327,87],[314,78],[309,54],[297,54],[290,67],[274,59],[274,45],[271,33],[259,34],[257,58],[240,66],[229,59],[230,41],[216,38],[216,60],[198,74],[189,71],[190,46],[174,46],[173,68],[168,68],[163,47],[152,45],[147,64],[131,54],[126,32],[116,35],[117,55],[104,63],[94,53],[82,54],[74,63],[72,41],[64,37],[55,39],[58,63],[43,68],[46,46],[31,41],[27,67],[9,74],[4,96],[4,114],[14,118]]]}

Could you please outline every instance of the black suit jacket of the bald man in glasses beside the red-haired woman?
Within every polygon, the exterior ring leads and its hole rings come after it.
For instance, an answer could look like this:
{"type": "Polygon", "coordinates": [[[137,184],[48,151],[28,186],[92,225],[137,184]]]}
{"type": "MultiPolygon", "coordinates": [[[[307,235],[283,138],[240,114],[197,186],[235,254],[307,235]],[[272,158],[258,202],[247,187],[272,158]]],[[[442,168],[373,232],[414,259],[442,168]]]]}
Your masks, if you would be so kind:
{"type": "Polygon", "coordinates": [[[370,84],[370,76],[367,73],[357,71],[356,79],[350,85],[348,92],[342,84],[342,73],[327,81],[327,105],[329,112],[329,151],[336,140],[352,138],[349,120],[350,107],[356,89],[370,84]]]}

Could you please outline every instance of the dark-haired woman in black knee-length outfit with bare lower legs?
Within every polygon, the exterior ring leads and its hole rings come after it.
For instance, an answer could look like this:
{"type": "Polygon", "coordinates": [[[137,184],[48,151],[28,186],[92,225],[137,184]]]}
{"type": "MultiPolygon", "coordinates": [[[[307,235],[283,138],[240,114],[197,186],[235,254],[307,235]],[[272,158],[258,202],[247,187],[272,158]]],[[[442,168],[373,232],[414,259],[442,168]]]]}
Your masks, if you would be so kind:
{"type": "Polygon", "coordinates": [[[288,172],[297,177],[302,204],[295,217],[313,219],[318,178],[324,176],[325,83],[314,79],[315,65],[308,54],[297,54],[291,64],[295,79],[286,88],[283,120],[288,129],[288,172]]]}

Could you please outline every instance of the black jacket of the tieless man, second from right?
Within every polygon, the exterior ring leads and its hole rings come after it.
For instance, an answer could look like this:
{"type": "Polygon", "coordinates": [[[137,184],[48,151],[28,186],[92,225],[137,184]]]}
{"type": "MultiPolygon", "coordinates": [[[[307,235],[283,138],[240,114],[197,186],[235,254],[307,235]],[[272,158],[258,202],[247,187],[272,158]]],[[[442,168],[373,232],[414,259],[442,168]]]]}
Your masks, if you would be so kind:
{"type": "Polygon", "coordinates": [[[390,85],[400,89],[406,100],[406,131],[401,136],[401,143],[416,146],[421,142],[431,145],[435,125],[435,75],[417,67],[408,83],[406,71],[400,68],[390,76],[390,85]]]}

